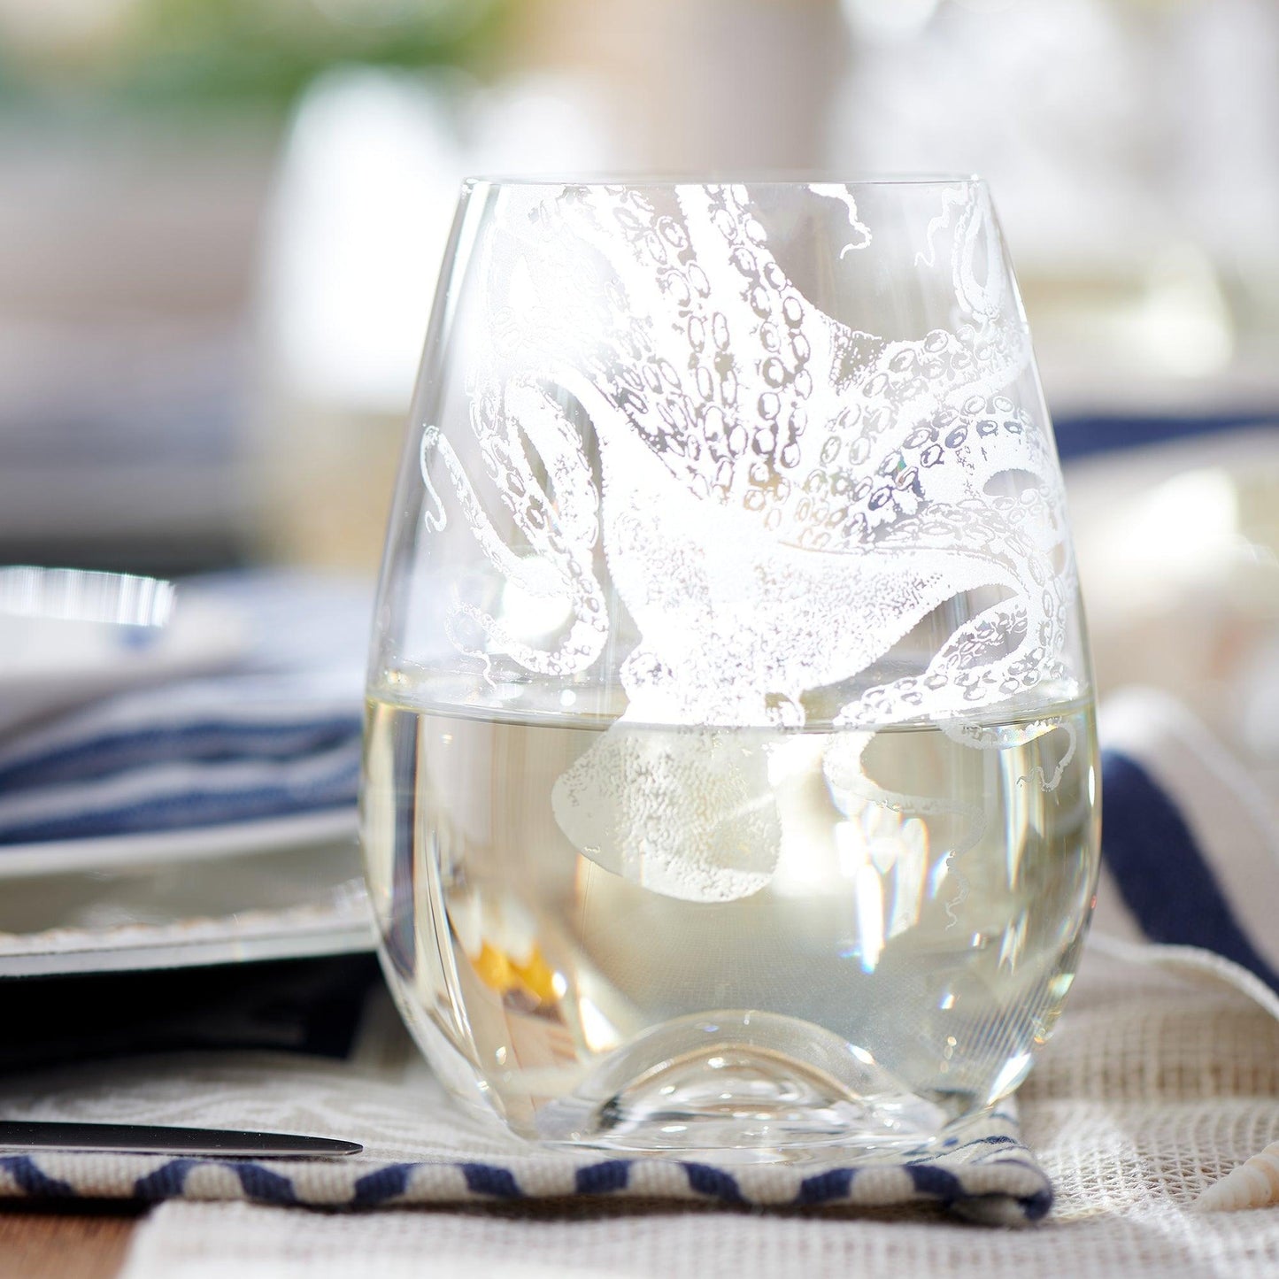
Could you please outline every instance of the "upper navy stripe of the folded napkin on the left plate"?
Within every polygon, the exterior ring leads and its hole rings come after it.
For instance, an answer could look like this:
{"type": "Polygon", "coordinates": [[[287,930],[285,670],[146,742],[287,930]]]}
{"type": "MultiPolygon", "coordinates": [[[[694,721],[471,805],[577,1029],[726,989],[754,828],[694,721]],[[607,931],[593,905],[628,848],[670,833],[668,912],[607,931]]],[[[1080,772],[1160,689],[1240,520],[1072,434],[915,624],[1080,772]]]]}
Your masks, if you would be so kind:
{"type": "Polygon", "coordinates": [[[0,765],[0,793],[110,776],[175,760],[286,760],[331,749],[359,737],[358,714],[298,723],[201,721],[139,726],[36,751],[0,765]]]}

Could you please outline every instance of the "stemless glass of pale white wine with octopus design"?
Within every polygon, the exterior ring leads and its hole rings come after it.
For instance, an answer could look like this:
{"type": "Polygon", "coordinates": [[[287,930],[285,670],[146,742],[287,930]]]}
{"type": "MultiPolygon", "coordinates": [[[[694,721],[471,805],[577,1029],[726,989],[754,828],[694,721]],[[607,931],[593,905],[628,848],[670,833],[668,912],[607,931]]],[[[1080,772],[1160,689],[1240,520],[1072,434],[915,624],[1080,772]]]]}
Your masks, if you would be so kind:
{"type": "Polygon", "coordinates": [[[1053,1028],[1096,789],[980,179],[466,184],[362,819],[458,1097],[629,1151],[926,1149],[1053,1028]]]}

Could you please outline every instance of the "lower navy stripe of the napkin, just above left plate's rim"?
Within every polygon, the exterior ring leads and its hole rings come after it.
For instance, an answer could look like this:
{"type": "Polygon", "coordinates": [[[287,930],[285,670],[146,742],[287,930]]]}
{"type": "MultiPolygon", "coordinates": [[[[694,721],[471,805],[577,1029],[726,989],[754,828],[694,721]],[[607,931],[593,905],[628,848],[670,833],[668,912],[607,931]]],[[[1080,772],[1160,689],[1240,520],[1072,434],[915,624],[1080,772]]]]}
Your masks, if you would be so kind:
{"type": "Polygon", "coordinates": [[[353,804],[359,781],[358,751],[353,746],[343,756],[331,771],[304,783],[285,780],[247,789],[188,790],[115,807],[13,821],[0,828],[0,844],[221,826],[353,804]]]}

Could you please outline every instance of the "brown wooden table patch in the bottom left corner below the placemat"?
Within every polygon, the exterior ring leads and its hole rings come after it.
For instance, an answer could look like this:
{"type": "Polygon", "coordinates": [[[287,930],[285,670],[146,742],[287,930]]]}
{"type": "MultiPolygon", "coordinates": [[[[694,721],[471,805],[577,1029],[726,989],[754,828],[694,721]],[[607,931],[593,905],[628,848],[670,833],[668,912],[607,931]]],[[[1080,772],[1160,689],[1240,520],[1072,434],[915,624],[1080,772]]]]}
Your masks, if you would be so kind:
{"type": "Polygon", "coordinates": [[[0,1207],[4,1279],[115,1279],[141,1220],[137,1209],[74,1212],[0,1207]]]}

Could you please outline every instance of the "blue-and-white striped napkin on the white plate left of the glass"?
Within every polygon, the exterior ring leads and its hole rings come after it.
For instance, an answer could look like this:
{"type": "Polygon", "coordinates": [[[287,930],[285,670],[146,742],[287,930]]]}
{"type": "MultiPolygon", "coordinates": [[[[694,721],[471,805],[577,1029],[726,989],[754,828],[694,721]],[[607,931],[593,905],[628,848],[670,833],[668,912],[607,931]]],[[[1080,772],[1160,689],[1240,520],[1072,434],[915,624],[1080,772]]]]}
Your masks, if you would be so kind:
{"type": "Polygon", "coordinates": [[[350,808],[370,591],[279,572],[179,593],[231,605],[249,645],[220,675],[120,692],[0,741],[5,845],[350,808]]]}

